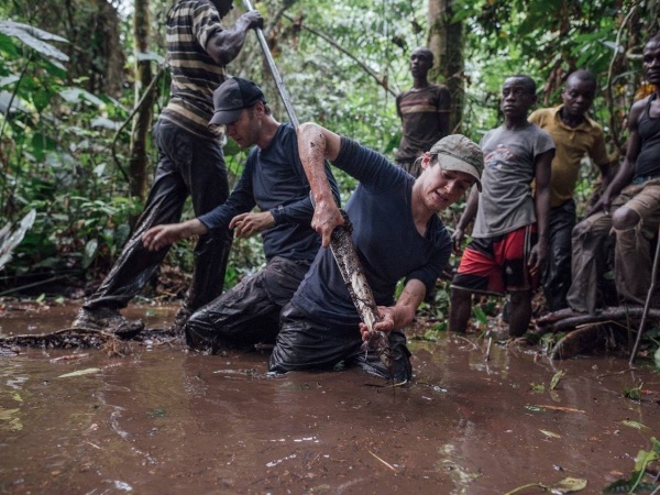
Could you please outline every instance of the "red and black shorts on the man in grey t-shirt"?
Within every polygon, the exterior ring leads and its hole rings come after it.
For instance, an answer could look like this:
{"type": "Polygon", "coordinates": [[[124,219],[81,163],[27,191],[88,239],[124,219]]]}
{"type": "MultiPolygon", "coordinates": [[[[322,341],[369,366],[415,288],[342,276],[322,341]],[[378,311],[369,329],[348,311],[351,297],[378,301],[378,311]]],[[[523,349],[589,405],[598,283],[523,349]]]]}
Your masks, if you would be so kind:
{"type": "Polygon", "coordinates": [[[536,224],[495,238],[475,238],[470,242],[452,288],[503,296],[507,292],[530,290],[538,286],[527,262],[536,243],[536,224]]]}

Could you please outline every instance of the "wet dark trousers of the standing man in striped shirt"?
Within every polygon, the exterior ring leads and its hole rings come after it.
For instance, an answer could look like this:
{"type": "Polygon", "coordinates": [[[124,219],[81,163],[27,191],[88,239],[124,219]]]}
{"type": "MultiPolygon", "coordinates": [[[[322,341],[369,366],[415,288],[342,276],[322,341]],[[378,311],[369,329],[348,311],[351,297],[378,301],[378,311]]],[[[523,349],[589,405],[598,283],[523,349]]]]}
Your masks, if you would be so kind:
{"type": "MultiPolygon", "coordinates": [[[[197,138],[162,119],[154,127],[154,142],[158,148],[158,165],[144,211],[114,266],[99,289],[85,301],[86,309],[124,308],[146,285],[169,248],[147,251],[142,245],[142,234],[153,226],[178,222],[189,195],[196,216],[222,205],[229,196],[220,144],[197,138]]],[[[184,302],[188,311],[222,293],[231,240],[229,230],[199,238],[194,252],[195,273],[184,302]]]]}

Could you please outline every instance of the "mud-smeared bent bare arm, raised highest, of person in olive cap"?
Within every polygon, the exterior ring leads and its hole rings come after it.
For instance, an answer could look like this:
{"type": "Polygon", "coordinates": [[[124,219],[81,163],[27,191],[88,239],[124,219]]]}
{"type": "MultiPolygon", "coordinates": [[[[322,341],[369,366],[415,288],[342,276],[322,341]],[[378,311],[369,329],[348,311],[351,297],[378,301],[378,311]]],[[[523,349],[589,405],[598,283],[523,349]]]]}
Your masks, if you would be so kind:
{"type": "Polygon", "coordinates": [[[344,223],[326,175],[326,160],[337,158],[341,139],[334,132],[311,122],[300,125],[297,134],[298,154],[316,205],[311,227],[321,234],[321,244],[328,246],[334,228],[344,223]]]}

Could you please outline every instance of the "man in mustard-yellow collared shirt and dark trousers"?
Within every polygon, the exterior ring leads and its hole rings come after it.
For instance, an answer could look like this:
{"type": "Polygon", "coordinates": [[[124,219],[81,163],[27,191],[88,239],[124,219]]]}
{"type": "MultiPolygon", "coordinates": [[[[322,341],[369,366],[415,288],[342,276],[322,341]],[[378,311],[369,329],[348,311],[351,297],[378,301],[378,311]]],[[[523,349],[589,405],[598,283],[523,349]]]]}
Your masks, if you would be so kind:
{"type": "Polygon", "coordinates": [[[601,169],[604,187],[612,163],[605,150],[603,128],[586,116],[596,94],[596,79],[588,70],[572,73],[564,85],[563,105],[543,108],[529,121],[548,132],[557,146],[550,178],[549,256],[543,272],[543,293],[550,311],[568,307],[571,286],[571,232],[575,227],[573,194],[580,179],[580,165],[590,156],[601,169]]]}

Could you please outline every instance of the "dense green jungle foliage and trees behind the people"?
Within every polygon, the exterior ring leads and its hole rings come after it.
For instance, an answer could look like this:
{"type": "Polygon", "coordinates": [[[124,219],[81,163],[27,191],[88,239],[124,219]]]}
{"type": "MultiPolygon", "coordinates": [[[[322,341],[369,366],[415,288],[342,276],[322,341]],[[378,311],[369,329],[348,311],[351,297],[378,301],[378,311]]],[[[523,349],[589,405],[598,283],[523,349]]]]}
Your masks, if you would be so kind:
{"type": "MultiPolygon", "coordinates": [[[[35,210],[2,270],[0,295],[64,295],[108,272],[141,210],[155,166],[150,128],[167,101],[165,16],[172,0],[53,0],[0,4],[0,227],[35,210]]],[[[314,120],[392,156],[400,139],[395,95],[410,86],[410,52],[436,54],[432,79],[453,97],[452,127],[479,141],[498,123],[506,75],[528,74],[539,105],[559,102],[569,73],[597,75],[593,117],[609,152],[645,92],[640,53],[659,28],[658,0],[283,0],[255,6],[301,121],[314,120]]],[[[243,11],[234,2],[228,23],[243,11]]],[[[232,75],[254,79],[286,121],[251,35],[232,75]]],[[[244,152],[228,143],[235,177],[244,152]]],[[[595,173],[584,168],[582,202],[595,173]]],[[[345,197],[352,182],[341,178],[345,197]]],[[[462,205],[448,211],[452,216],[462,205]]],[[[189,215],[189,212],[188,212],[189,215]]],[[[186,276],[190,243],[164,268],[186,276]]],[[[263,260],[237,243],[235,279],[263,260]]],[[[170,295],[176,296],[175,292],[170,295]]]]}

